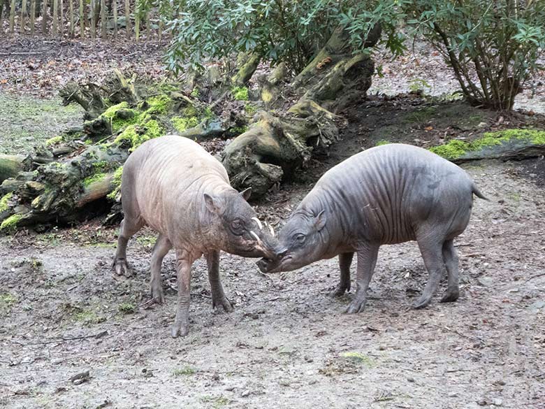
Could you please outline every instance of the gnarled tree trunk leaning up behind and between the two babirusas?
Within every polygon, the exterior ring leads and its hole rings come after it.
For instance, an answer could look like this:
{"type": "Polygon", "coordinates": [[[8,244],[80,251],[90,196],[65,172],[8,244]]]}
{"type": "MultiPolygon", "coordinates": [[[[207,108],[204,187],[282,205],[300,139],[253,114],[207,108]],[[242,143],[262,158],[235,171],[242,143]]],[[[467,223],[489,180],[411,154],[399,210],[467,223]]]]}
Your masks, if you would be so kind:
{"type": "MultiPolygon", "coordinates": [[[[279,114],[256,114],[248,131],[227,146],[223,163],[233,187],[252,187],[252,196],[261,196],[305,166],[313,150],[337,141],[340,118],[335,113],[365,95],[374,71],[368,55],[354,55],[348,36],[336,29],[312,62],[282,89],[291,92],[296,103],[279,114]]],[[[377,43],[379,36],[377,26],[367,45],[377,43]]],[[[261,99],[268,108],[284,104],[278,96],[285,73],[279,66],[263,81],[261,99]]]]}

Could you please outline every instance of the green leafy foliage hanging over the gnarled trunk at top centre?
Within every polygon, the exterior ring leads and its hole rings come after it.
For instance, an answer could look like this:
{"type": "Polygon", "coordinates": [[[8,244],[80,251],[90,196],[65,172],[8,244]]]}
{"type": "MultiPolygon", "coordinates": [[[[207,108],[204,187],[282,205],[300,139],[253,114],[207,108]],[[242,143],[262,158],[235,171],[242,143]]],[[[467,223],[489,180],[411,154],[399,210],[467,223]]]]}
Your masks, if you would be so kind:
{"type": "Polygon", "coordinates": [[[174,71],[183,64],[202,69],[208,59],[254,52],[300,71],[339,24],[347,27],[354,50],[363,50],[377,22],[386,31],[386,45],[400,54],[402,37],[395,27],[403,1],[175,0],[178,17],[161,13],[173,32],[167,66],[174,71]]]}

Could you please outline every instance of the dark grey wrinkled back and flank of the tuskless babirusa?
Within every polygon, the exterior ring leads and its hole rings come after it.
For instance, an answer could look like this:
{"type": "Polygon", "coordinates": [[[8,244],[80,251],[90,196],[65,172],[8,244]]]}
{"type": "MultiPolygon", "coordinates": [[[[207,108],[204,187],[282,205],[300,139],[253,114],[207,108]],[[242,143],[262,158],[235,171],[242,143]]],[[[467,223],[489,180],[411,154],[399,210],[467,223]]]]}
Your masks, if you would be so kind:
{"type": "Polygon", "coordinates": [[[472,205],[472,180],[428,150],[389,144],[326,172],[314,188],[333,208],[343,234],[380,243],[415,240],[418,227],[458,228],[472,205]]]}

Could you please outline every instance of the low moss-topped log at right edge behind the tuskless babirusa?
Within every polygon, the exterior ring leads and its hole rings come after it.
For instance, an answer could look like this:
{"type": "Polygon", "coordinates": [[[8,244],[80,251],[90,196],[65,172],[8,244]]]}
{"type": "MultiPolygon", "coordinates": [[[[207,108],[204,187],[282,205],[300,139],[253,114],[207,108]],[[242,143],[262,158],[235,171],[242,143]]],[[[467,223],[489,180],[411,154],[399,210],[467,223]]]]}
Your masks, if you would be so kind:
{"type": "Polygon", "coordinates": [[[430,148],[431,152],[453,162],[477,159],[523,159],[545,153],[545,131],[505,129],[487,132],[472,142],[452,140],[430,148]]]}

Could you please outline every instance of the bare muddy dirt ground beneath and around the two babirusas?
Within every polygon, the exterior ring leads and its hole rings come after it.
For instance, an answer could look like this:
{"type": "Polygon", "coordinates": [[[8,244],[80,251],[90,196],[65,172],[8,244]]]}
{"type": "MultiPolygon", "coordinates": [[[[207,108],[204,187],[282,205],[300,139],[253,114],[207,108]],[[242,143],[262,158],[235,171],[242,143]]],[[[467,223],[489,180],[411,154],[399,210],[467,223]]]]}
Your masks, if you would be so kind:
{"type": "MultiPolygon", "coordinates": [[[[378,141],[427,147],[543,125],[415,98],[343,113],[342,141],[256,203],[261,217],[282,224],[327,168],[378,141]]],[[[163,264],[166,303],[150,303],[152,231],[129,243],[135,275],[120,280],[116,231],[99,220],[0,238],[0,407],[545,408],[545,159],[463,168],[490,201],[475,200],[456,240],[460,299],[439,293],[424,310],[409,309],[427,276],[416,243],[381,248],[358,315],[342,313],[353,293],[328,295],[336,259],[263,275],[256,260],[222,254],[235,311],[212,311],[201,259],[189,335],[173,339],[175,262],[163,264]]]]}

